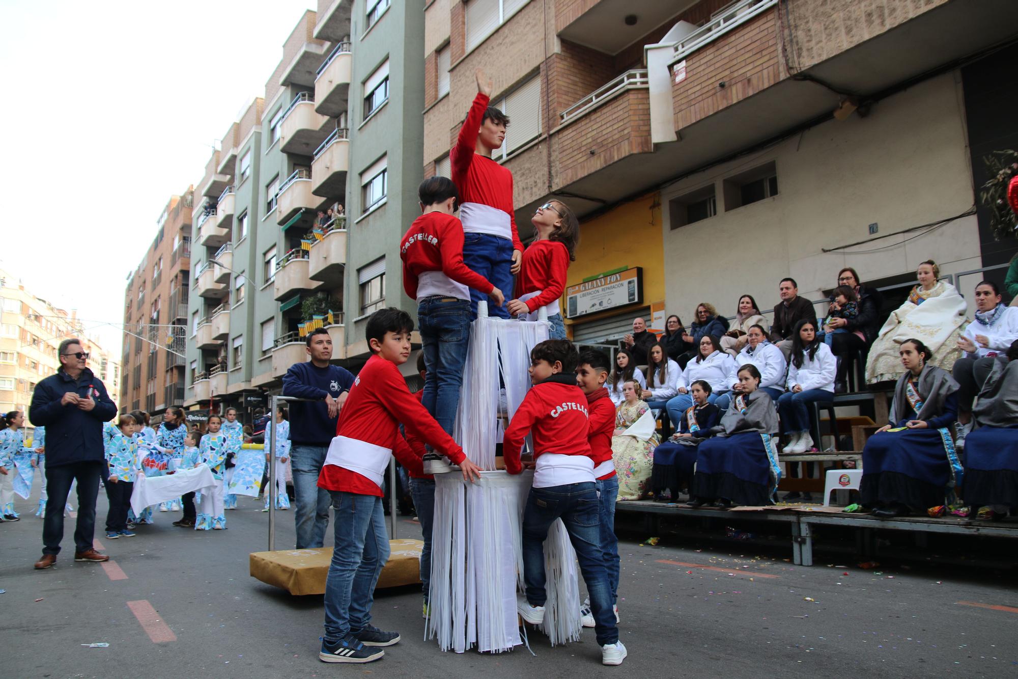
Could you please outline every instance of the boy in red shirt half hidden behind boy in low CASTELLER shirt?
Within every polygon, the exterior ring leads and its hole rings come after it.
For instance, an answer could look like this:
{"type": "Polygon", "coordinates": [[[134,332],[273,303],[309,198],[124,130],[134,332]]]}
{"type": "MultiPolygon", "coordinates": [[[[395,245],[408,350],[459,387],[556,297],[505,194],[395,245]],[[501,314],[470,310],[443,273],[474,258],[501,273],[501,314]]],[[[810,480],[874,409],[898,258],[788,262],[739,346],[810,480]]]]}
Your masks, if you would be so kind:
{"type": "MultiPolygon", "coordinates": [[[[619,494],[619,477],[612,460],[612,435],[615,433],[615,404],[612,403],[605,382],[608,381],[611,359],[605,352],[592,349],[580,352],[576,365],[576,385],[586,397],[587,433],[590,457],[593,458],[593,476],[598,484],[598,506],[601,512],[601,553],[608,573],[608,586],[612,591],[612,610],[619,622],[617,606],[619,589],[619,538],[615,535],[615,499],[619,494]]],[[[580,608],[583,627],[593,627],[590,602],[580,608]]]]}

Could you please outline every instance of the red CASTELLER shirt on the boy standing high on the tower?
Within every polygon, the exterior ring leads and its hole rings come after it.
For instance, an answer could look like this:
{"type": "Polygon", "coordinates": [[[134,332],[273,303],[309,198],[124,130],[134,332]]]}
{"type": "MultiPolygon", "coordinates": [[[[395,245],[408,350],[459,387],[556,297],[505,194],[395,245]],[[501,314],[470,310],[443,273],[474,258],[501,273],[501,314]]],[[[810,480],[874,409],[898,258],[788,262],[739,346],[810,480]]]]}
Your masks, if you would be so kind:
{"type": "Polygon", "coordinates": [[[422,295],[461,300],[470,299],[467,288],[485,294],[495,289],[463,263],[463,224],[451,214],[429,212],[414,219],[399,243],[399,256],[403,260],[403,290],[411,300],[417,299],[418,284],[423,288],[422,295]],[[431,274],[427,282],[419,282],[428,271],[441,275],[431,274]]]}

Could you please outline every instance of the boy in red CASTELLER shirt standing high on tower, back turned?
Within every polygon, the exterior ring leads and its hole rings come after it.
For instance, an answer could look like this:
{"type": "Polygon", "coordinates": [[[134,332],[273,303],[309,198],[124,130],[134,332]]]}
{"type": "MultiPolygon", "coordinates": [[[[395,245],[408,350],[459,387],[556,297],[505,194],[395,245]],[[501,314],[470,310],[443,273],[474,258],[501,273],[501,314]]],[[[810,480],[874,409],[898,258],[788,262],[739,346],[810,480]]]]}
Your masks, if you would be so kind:
{"type": "Polygon", "coordinates": [[[428,377],[421,403],[452,435],[470,338],[470,290],[500,306],[502,291],[463,264],[463,225],[453,216],[459,195],[452,179],[433,176],[417,189],[422,214],[403,236],[403,289],[417,301],[428,377]]]}

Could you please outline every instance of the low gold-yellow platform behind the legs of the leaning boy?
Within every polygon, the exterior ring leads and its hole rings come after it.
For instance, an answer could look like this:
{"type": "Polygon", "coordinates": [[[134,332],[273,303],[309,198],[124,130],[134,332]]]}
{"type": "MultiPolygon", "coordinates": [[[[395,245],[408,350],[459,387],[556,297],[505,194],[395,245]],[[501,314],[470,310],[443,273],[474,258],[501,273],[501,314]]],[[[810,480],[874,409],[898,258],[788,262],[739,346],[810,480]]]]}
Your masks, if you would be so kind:
{"type": "MultiPolygon", "coordinates": [[[[420,582],[420,551],[423,546],[420,540],[389,540],[391,554],[376,588],[420,582]]],[[[323,594],[331,561],[331,547],[252,552],[249,568],[252,578],[282,587],[295,596],[323,594]]]]}

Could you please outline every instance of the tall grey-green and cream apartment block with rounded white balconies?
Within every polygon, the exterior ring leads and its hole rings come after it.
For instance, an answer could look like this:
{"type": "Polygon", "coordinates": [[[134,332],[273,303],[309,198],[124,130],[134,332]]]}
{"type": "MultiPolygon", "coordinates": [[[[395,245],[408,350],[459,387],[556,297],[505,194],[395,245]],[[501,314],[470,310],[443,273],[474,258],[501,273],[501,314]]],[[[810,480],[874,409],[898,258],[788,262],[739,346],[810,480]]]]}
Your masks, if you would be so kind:
{"type": "Polygon", "coordinates": [[[402,182],[406,169],[415,190],[422,162],[422,33],[404,3],[321,0],[213,153],[194,203],[188,408],[264,405],[314,327],[356,367],[370,310],[406,306],[384,267],[415,216],[402,182]]]}

